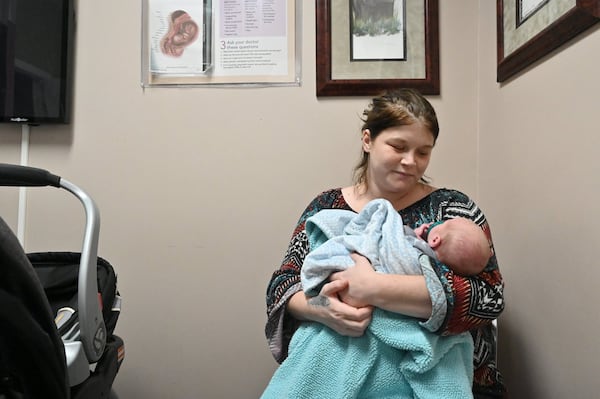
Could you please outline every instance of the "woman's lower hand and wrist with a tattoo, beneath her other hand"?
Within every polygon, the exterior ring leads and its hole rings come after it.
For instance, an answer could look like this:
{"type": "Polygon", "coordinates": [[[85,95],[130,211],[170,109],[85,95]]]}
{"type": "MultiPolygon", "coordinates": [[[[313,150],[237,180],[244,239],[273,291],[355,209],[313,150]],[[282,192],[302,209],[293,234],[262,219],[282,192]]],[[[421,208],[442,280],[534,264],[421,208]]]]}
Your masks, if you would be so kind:
{"type": "Polygon", "coordinates": [[[338,298],[340,291],[348,288],[346,281],[325,284],[319,295],[307,298],[298,292],[288,303],[288,310],[301,320],[318,321],[340,335],[360,337],[371,323],[373,307],[354,307],[338,298]]]}

